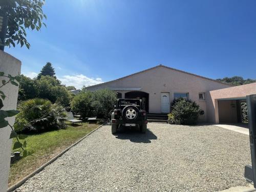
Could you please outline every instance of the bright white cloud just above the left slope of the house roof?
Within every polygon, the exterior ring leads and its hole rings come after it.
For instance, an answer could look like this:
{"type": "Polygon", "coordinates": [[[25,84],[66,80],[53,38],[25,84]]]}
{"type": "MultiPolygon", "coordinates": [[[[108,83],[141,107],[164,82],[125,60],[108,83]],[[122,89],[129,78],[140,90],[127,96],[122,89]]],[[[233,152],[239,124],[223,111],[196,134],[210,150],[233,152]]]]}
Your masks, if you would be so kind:
{"type": "Polygon", "coordinates": [[[89,78],[85,75],[64,75],[58,79],[66,86],[74,86],[76,89],[81,89],[82,86],[93,86],[94,84],[102,83],[101,78],[89,78]]]}

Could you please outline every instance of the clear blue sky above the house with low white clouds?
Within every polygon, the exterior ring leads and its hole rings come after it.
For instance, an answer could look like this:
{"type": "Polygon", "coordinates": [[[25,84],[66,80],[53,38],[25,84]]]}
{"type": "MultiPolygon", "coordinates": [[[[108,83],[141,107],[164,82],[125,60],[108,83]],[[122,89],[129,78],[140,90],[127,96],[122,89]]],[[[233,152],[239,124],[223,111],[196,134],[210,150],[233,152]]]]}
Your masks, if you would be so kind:
{"type": "Polygon", "coordinates": [[[256,1],[46,0],[31,49],[6,48],[33,76],[52,62],[80,88],[159,65],[256,79],[256,1]]]}

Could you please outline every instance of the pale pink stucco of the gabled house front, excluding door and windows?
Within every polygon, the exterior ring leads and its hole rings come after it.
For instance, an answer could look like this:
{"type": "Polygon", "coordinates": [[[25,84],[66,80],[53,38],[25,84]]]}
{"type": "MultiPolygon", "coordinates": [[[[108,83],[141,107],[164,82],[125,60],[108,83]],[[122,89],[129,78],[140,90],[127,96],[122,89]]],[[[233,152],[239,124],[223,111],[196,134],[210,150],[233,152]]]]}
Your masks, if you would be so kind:
{"type": "MultiPolygon", "coordinates": [[[[103,83],[98,86],[87,88],[97,90],[110,87],[140,87],[143,92],[149,93],[149,112],[161,113],[161,92],[170,93],[170,102],[174,99],[176,92],[188,92],[189,99],[196,101],[205,114],[200,117],[201,121],[206,121],[207,110],[206,101],[199,100],[200,92],[222,89],[230,87],[228,84],[212,81],[195,75],[187,74],[177,70],[168,69],[164,66],[137,73],[122,79],[103,83]]],[[[124,93],[129,91],[118,91],[124,93]]],[[[208,98],[206,98],[207,100],[208,98]]]]}

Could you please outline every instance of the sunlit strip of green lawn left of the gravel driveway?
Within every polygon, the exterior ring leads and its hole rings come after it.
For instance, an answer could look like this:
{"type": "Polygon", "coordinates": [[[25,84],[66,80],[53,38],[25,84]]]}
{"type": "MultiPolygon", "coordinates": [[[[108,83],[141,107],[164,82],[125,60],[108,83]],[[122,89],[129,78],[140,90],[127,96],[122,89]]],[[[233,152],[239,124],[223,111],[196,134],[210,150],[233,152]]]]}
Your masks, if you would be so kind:
{"type": "MultiPolygon", "coordinates": [[[[20,159],[11,165],[9,174],[9,186],[23,179],[36,168],[46,163],[54,156],[59,154],[65,148],[78,141],[83,136],[95,130],[99,124],[83,123],[83,125],[68,124],[67,129],[56,130],[37,135],[20,134],[23,143],[27,141],[26,150],[31,152],[32,156],[20,159]]],[[[13,144],[16,139],[13,139],[13,144]]]]}

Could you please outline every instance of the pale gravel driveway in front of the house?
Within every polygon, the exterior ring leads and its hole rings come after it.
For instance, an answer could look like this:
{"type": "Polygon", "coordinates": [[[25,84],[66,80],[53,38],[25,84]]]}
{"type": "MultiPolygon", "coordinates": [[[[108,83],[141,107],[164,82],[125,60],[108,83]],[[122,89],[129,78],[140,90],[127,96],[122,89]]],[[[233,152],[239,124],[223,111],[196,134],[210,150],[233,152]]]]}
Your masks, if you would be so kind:
{"type": "Polygon", "coordinates": [[[16,191],[218,191],[244,180],[248,136],[214,125],[111,126],[74,146],[16,191]]]}

